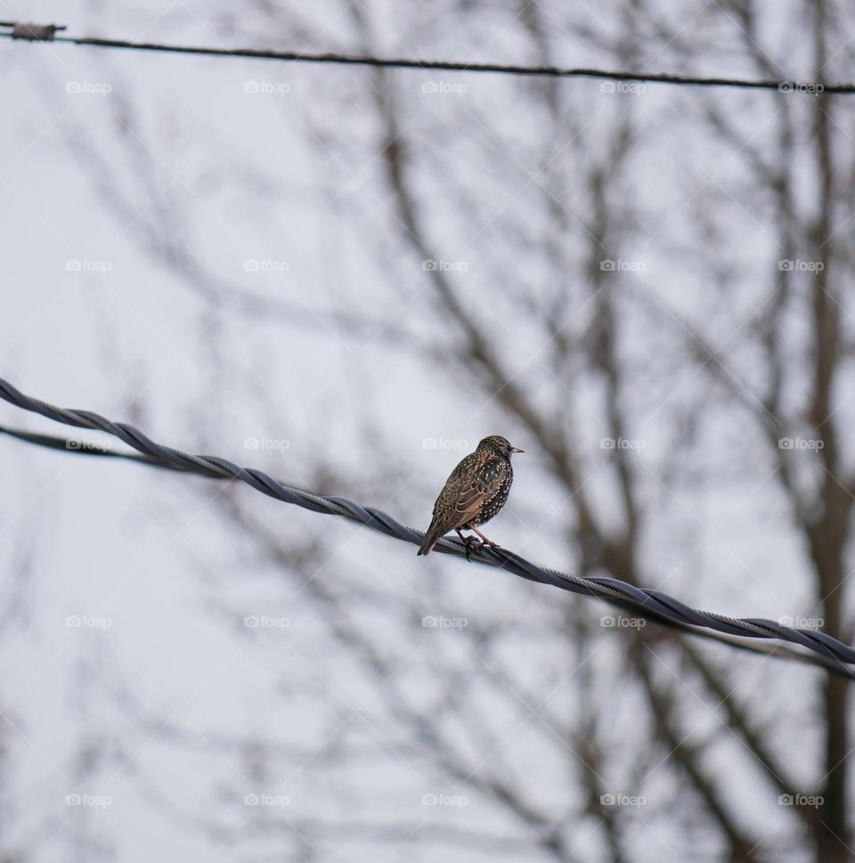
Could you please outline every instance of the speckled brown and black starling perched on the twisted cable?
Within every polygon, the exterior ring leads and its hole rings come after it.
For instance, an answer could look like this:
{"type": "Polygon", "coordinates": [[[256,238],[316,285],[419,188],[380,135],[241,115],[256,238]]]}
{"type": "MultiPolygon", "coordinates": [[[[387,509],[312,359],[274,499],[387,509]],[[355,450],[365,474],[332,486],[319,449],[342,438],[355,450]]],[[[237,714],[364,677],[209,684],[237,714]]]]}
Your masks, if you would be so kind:
{"type": "Polygon", "coordinates": [[[469,543],[472,536],[463,536],[460,528],[475,531],[482,544],[497,543],[488,540],[477,529],[505,505],[514,481],[514,469],[510,466],[511,452],[523,452],[511,446],[505,438],[498,435],[485,437],[475,452],[470,452],[452,470],[442,492],[434,504],[434,517],[431,519],[425,540],[421,543],[419,554],[430,554],[436,542],[449,531],[457,535],[466,545],[469,557],[469,543]]]}

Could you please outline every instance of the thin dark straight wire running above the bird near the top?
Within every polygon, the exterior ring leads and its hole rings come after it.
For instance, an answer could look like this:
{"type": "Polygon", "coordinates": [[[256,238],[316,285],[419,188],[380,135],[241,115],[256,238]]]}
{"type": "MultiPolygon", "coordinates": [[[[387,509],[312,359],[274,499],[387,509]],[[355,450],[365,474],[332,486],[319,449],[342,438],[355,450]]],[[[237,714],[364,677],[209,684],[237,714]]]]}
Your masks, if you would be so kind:
{"type": "Polygon", "coordinates": [[[505,63],[468,63],[444,60],[407,60],[401,57],[371,57],[341,53],[304,53],[276,51],[269,48],[221,48],[205,45],[168,45],[159,42],[131,42],[126,39],[97,37],[56,36],[53,24],[21,24],[0,22],[0,26],[13,27],[0,37],[29,42],[64,42],[69,45],[88,45],[94,48],[122,48],[128,51],[158,51],[167,53],[198,54],[207,57],[242,57],[248,60],[279,60],[303,63],[334,63],[345,66],[376,66],[385,69],[422,69],[444,72],[487,72],[501,75],[536,77],[599,78],[607,81],[634,82],[701,87],[737,87],[751,90],[778,90],[781,93],[853,94],[855,84],[825,84],[799,80],[752,79],[737,77],[699,77],[673,75],[668,72],[631,72],[626,70],[567,68],[562,66],[524,66],[505,63]]]}

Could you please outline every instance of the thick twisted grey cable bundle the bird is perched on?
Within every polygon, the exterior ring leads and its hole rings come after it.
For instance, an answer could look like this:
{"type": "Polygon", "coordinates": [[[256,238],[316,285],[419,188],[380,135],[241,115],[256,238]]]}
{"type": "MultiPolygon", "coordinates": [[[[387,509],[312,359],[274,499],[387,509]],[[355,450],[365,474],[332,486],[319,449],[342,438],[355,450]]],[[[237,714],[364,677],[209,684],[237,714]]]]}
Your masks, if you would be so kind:
{"type": "MultiPolygon", "coordinates": [[[[31,444],[38,444],[67,452],[95,457],[119,458],[141,461],[158,468],[168,468],[184,473],[199,474],[215,479],[238,479],[248,484],[256,491],[264,493],[278,501],[284,501],[303,509],[326,515],[350,518],[372,530],[385,533],[396,540],[419,545],[423,533],[406,525],[379,509],[363,507],[346,498],[315,494],[294,485],[281,483],[269,476],[263,470],[256,468],[241,468],[232,461],[217,456],[192,455],[182,450],[164,446],[152,441],[139,429],[122,422],[104,419],[93,411],[69,410],[40,399],[24,395],[12,387],[8,381],[0,378],[0,399],[15,405],[25,411],[39,413],[48,419],[56,420],[67,426],[98,429],[118,437],[130,446],[135,453],[113,452],[107,448],[93,448],[80,442],[61,437],[40,435],[34,432],[21,431],[0,426],[0,433],[16,437],[31,444]]],[[[439,541],[436,550],[445,554],[460,557],[466,555],[464,544],[458,539],[443,539],[439,541]]],[[[723,641],[731,647],[750,650],[755,653],[796,659],[825,668],[829,672],[841,674],[849,680],[855,680],[855,671],[849,666],[855,664],[855,648],[833,638],[826,632],[811,629],[794,628],[767,620],[761,617],[729,617],[712,612],[705,612],[690,607],[679,599],[673,598],[661,590],[640,588],[628,582],[609,576],[582,576],[563,573],[558,570],[536,566],[512,551],[502,548],[482,546],[471,550],[471,559],[506,570],[511,574],[542,584],[550,584],[561,590],[568,590],[582,596],[604,599],[608,603],[629,611],[634,615],[661,623],[666,626],[691,632],[707,639],[723,641]],[[779,639],[800,647],[807,648],[812,655],[803,654],[784,645],[760,647],[738,639],[779,639]]]]}

